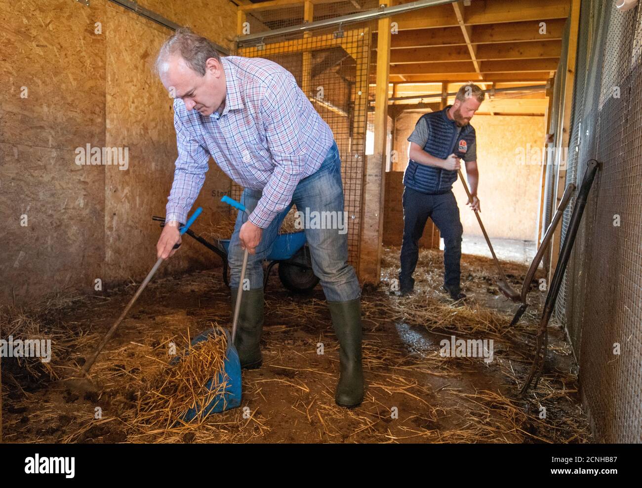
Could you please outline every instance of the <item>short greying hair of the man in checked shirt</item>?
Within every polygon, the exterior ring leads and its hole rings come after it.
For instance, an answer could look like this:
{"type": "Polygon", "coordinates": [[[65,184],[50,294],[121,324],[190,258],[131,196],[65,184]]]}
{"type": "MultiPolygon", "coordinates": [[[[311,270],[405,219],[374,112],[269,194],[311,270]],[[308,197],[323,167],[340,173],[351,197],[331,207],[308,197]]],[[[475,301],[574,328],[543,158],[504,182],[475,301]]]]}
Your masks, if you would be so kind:
{"type": "Polygon", "coordinates": [[[187,65],[200,74],[205,76],[207,70],[207,60],[215,58],[220,61],[221,56],[216,51],[216,47],[211,40],[195,34],[190,28],[182,27],[166,40],[160,47],[154,70],[160,74],[160,65],[166,61],[169,56],[178,55],[183,58],[187,65]]]}

